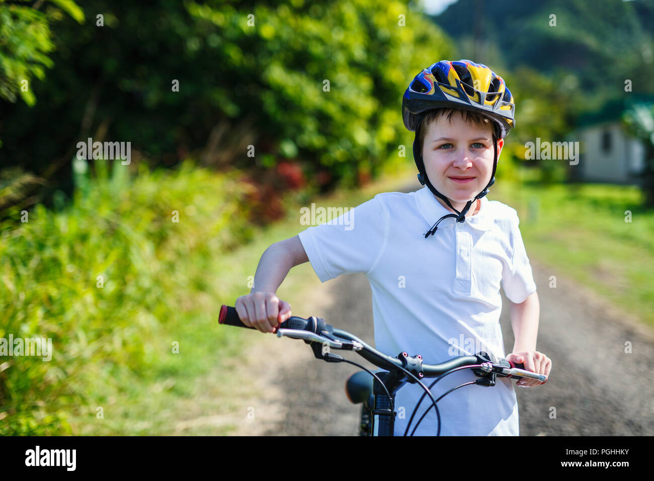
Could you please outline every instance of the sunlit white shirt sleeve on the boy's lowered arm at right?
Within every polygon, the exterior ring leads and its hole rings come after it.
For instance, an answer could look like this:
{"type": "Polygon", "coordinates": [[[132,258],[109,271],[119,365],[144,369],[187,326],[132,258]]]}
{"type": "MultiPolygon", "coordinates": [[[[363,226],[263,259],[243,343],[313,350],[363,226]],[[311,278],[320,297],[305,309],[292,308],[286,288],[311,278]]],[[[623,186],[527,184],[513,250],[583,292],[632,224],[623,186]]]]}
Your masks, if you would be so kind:
{"type": "Polygon", "coordinates": [[[511,222],[511,240],[513,244],[513,255],[510,265],[502,270],[502,287],[508,299],[514,304],[525,302],[526,298],[536,292],[536,283],[532,273],[531,264],[523,243],[523,236],[518,228],[519,219],[514,211],[514,219],[511,222]]]}

